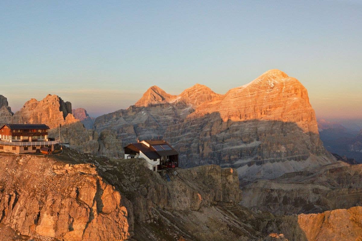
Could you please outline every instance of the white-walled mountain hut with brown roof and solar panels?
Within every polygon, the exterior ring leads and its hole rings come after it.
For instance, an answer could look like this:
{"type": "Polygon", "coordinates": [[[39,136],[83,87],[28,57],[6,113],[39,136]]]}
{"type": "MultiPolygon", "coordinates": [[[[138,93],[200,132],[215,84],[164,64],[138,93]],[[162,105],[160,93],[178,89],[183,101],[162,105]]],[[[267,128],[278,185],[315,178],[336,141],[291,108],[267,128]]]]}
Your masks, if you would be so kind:
{"type": "Polygon", "coordinates": [[[144,158],[152,171],[178,167],[178,152],[163,139],[131,143],[124,149],[125,159],[144,158]]]}

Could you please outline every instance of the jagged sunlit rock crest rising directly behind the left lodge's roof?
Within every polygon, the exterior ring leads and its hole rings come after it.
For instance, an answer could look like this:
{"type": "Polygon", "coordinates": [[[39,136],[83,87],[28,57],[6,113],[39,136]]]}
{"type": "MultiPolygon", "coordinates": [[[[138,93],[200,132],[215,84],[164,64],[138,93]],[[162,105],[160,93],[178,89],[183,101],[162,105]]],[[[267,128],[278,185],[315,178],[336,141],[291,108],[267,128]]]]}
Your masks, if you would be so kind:
{"type": "Polygon", "coordinates": [[[11,120],[19,124],[43,123],[51,129],[59,125],[66,125],[77,122],[72,115],[72,104],[64,102],[57,95],[47,95],[41,101],[30,99],[17,111],[11,120]]]}

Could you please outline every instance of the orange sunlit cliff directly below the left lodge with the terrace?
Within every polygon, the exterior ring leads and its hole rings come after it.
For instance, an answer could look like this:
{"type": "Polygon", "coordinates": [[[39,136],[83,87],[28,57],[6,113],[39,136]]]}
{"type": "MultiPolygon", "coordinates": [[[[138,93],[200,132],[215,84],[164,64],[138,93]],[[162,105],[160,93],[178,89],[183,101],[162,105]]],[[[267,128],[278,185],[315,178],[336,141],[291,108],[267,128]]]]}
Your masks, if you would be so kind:
{"type": "Polygon", "coordinates": [[[1,224],[29,237],[125,240],[130,202],[89,164],[37,156],[0,155],[1,224]]]}

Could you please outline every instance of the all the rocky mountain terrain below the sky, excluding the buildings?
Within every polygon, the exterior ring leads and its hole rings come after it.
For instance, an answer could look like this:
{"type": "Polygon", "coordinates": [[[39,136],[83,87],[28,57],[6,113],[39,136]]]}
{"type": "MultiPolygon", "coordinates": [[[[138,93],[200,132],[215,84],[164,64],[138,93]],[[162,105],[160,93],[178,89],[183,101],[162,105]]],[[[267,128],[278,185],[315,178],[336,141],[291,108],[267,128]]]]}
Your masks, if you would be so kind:
{"type": "Polygon", "coordinates": [[[0,96],[6,122],[47,124],[71,148],[0,153],[0,240],[362,237],[362,165],[324,148],[319,133],[343,128],[318,125],[306,88],[280,70],[225,94],[200,84],[179,95],[152,86],[95,120],[57,95],[30,99],[16,113],[0,96]],[[159,137],[180,152],[183,168],[168,173],[171,181],[142,159],[120,160],[128,143],[159,137]]]}

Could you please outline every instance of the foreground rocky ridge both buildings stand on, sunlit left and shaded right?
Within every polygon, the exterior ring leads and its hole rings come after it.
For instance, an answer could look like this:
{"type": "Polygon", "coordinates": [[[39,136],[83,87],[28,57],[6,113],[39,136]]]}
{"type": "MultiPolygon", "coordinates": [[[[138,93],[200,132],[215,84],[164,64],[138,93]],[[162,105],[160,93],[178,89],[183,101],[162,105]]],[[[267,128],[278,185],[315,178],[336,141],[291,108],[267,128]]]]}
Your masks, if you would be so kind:
{"type": "Polygon", "coordinates": [[[56,156],[0,154],[0,231],[14,240],[260,240],[237,173],[177,169],[168,182],[142,159],[112,161],[64,147],[56,156]],[[8,228],[8,229],[6,229],[8,228]],[[12,232],[13,231],[13,232],[12,232]],[[18,238],[18,239],[17,239],[18,238]]]}

